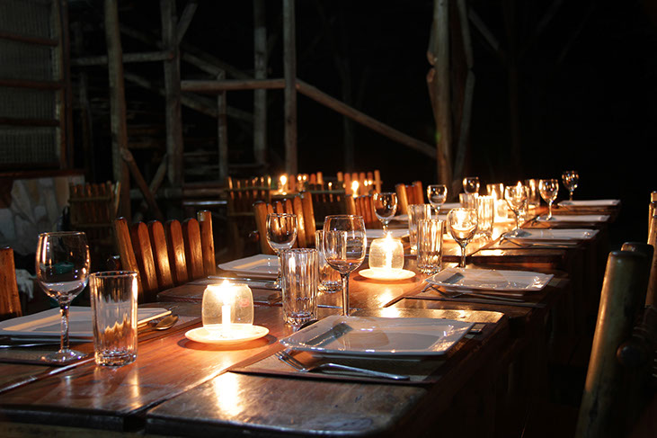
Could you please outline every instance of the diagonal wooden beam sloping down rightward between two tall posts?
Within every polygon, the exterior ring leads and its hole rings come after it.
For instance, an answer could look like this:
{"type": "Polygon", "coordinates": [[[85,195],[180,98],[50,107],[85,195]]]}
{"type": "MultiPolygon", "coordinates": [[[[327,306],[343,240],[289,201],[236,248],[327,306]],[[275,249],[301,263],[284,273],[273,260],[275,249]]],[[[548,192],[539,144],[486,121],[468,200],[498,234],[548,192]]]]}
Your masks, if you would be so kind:
{"type": "Polygon", "coordinates": [[[305,82],[298,80],[297,81],[297,90],[299,93],[306,95],[307,97],[313,99],[315,102],[322,103],[324,106],[331,108],[335,112],[340,112],[342,115],[350,117],[353,121],[359,122],[361,125],[368,127],[370,130],[375,130],[379,134],[386,136],[388,139],[395,140],[403,144],[404,146],[411,147],[418,152],[431,158],[436,158],[436,148],[432,147],[428,143],[424,143],[418,139],[413,139],[399,130],[395,130],[387,126],[381,121],[368,116],[367,114],[360,112],[351,108],[351,106],[346,103],[335,99],[334,97],[325,94],[324,92],[318,90],[313,85],[308,85],[305,82]]]}

